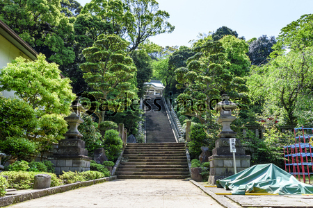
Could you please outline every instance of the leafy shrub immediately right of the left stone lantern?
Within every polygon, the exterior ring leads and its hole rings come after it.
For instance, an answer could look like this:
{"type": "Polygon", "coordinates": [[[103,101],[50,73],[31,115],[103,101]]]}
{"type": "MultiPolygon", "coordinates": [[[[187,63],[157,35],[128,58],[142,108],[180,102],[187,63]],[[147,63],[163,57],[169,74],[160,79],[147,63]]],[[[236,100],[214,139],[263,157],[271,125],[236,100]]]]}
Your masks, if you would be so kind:
{"type": "Polygon", "coordinates": [[[93,157],[94,150],[102,147],[102,137],[93,122],[92,116],[81,114],[81,119],[83,119],[83,123],[79,125],[78,130],[83,135],[82,139],[85,141],[85,148],[88,150],[88,155],[93,157]]]}

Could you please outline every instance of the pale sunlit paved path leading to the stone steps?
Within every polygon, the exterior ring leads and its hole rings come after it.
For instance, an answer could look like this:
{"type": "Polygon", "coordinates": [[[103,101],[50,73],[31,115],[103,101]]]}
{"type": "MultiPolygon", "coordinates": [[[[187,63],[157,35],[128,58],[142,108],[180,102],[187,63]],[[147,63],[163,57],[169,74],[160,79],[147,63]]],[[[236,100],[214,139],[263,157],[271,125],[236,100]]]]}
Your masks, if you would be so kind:
{"type": "Polygon", "coordinates": [[[222,207],[183,180],[114,180],[10,207],[222,207]]]}

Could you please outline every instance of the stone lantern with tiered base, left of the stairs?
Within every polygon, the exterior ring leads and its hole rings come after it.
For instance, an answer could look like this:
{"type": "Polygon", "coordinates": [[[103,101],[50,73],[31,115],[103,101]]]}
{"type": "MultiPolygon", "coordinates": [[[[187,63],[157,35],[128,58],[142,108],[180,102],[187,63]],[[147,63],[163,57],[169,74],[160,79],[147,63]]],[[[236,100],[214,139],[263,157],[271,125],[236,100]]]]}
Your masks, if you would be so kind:
{"type": "Polygon", "coordinates": [[[90,160],[88,150],[85,148],[85,141],[81,140],[81,133],[77,130],[81,119],[81,112],[84,108],[78,101],[74,101],[72,105],[72,113],[64,118],[67,121],[69,128],[65,133],[65,139],[58,142],[58,148],[54,149],[54,155],[51,162],[54,164],[56,174],[60,175],[63,171],[89,171],[90,160]]]}

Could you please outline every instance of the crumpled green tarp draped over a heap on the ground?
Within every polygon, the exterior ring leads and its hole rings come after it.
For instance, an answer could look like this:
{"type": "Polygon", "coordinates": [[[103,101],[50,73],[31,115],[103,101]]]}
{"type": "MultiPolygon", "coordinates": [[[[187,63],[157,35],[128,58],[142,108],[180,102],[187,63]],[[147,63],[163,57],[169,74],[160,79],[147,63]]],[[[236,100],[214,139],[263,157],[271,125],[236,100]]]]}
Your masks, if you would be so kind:
{"type": "Polygon", "coordinates": [[[313,194],[312,185],[299,182],[296,177],[274,164],[252,166],[223,180],[217,180],[216,185],[232,190],[232,194],[313,194]]]}

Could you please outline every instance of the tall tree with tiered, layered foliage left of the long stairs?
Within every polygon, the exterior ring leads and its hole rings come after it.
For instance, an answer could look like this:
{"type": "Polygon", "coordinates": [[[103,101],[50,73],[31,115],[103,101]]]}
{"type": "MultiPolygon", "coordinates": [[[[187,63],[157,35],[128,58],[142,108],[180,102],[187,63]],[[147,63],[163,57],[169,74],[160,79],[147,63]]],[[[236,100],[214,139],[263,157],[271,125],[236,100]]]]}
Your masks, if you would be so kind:
{"type": "Polygon", "coordinates": [[[106,110],[124,110],[123,100],[136,95],[134,83],[131,84],[136,67],[127,56],[128,44],[118,35],[99,35],[92,47],[83,50],[86,58],[86,62],[81,64],[83,78],[93,89],[90,94],[102,104],[95,111],[99,122],[104,121],[106,110]]]}

